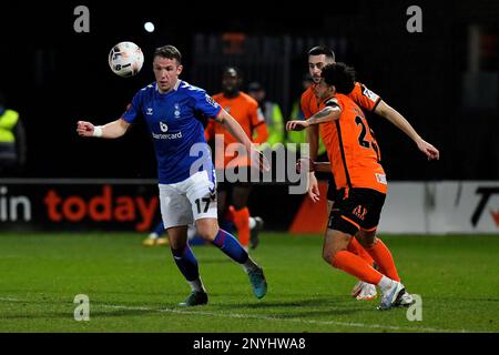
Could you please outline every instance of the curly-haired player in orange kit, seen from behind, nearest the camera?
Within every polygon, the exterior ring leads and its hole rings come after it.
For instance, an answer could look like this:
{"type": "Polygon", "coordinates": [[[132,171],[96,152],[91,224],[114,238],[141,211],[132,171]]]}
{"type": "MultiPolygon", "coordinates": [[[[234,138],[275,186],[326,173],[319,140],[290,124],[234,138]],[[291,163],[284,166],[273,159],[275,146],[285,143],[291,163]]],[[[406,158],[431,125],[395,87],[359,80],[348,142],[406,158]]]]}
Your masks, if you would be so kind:
{"type": "MultiPolygon", "coordinates": [[[[413,297],[400,282],[391,253],[376,237],[387,181],[373,131],[361,109],[348,95],[355,90],[355,71],[344,63],[333,63],[322,68],[320,77],[316,87],[319,111],[307,121],[289,121],[286,129],[303,130],[320,124],[323,142],[327,148],[338,190],[329,215],[323,258],[334,267],[377,285],[383,292],[378,310],[408,305],[413,303],[413,297]],[[354,237],[374,258],[379,271],[348,251],[354,237]]],[[[404,122],[396,121],[394,124],[407,129],[404,122]]],[[[438,150],[417,135],[414,129],[413,134],[408,135],[428,160],[439,159],[438,150]]]]}

